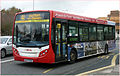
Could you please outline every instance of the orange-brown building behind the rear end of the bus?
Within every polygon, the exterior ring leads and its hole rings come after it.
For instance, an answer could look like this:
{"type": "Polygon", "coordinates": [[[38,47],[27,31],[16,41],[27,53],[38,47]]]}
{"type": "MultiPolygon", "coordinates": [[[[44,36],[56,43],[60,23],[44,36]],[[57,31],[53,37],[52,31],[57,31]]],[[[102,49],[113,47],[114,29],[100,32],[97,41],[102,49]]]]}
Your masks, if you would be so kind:
{"type": "Polygon", "coordinates": [[[98,19],[102,19],[102,20],[109,20],[109,21],[114,21],[116,22],[116,33],[119,34],[120,31],[120,11],[119,10],[113,10],[110,11],[110,14],[107,15],[107,17],[99,17],[98,19]]]}

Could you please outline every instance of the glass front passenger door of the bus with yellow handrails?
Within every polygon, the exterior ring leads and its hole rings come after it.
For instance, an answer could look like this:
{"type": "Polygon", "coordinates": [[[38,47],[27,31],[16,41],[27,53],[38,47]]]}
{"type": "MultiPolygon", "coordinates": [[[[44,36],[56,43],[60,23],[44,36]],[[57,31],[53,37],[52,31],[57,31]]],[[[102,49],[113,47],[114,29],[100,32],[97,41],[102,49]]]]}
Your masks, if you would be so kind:
{"type": "Polygon", "coordinates": [[[66,49],[67,49],[67,26],[64,23],[56,22],[55,29],[55,51],[56,61],[65,60],[66,49]]]}

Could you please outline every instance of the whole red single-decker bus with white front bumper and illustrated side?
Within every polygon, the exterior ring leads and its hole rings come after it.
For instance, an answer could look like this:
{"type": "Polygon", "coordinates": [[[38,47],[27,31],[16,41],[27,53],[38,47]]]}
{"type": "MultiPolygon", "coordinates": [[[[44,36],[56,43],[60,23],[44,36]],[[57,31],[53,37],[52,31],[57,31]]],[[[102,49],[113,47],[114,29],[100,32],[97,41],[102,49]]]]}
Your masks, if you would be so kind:
{"type": "Polygon", "coordinates": [[[52,10],[20,12],[13,25],[14,60],[75,62],[115,47],[115,23],[52,10]]]}

